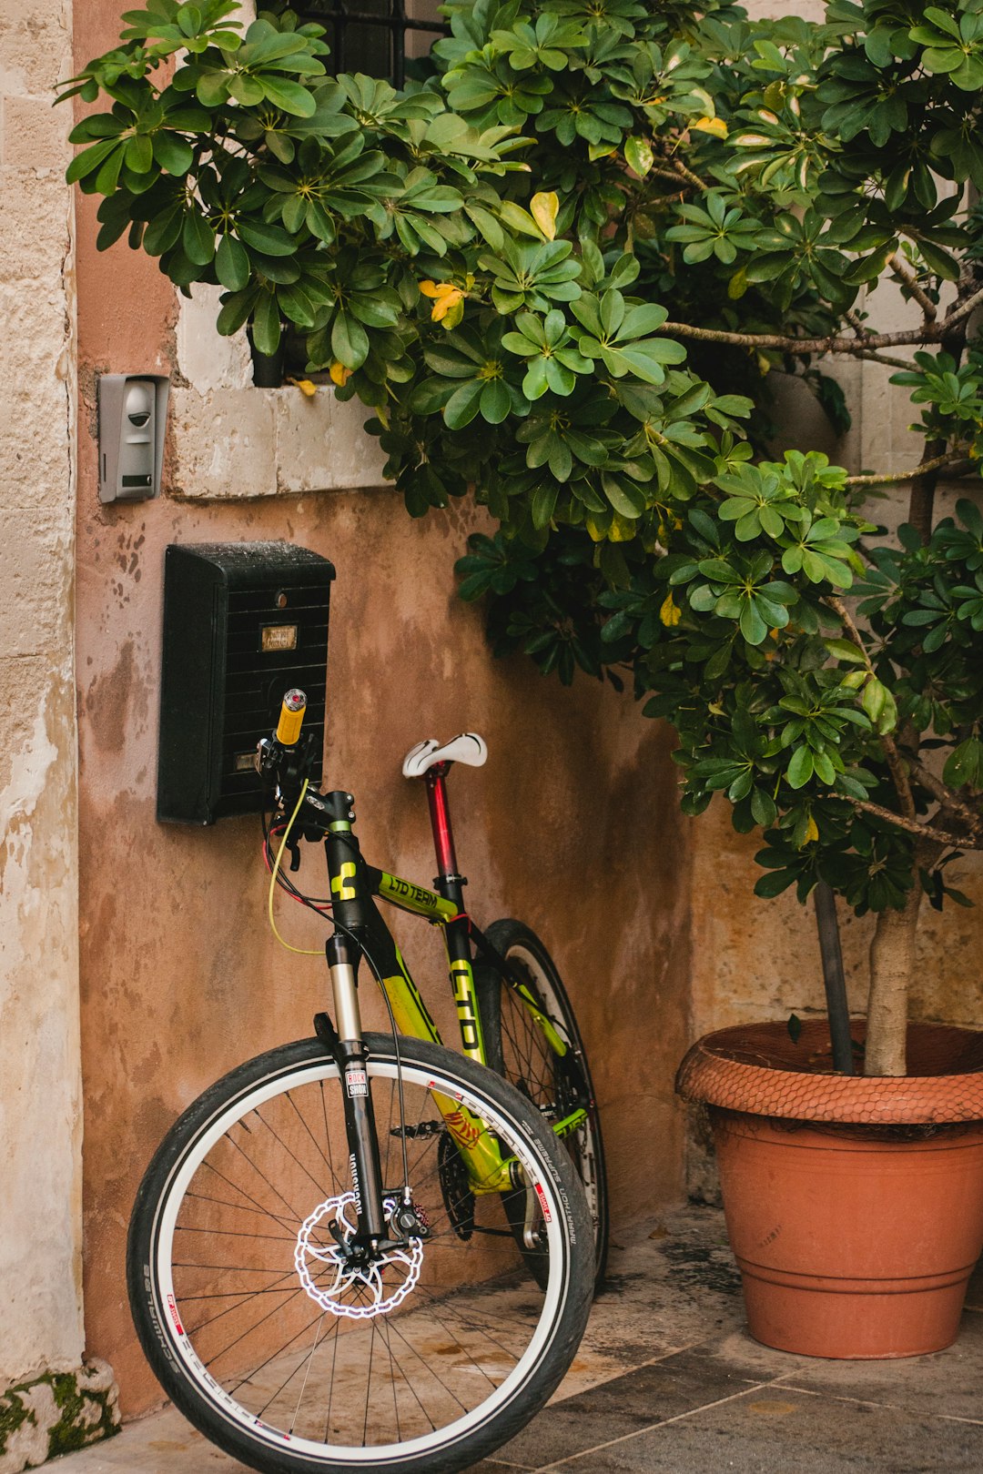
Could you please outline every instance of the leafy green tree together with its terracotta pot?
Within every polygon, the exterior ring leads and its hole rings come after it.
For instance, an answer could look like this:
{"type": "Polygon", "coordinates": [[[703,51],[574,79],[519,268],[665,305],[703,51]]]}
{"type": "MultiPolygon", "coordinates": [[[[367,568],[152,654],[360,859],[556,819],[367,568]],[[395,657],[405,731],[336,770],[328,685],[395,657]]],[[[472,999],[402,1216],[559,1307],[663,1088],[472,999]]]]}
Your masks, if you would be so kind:
{"type": "Polygon", "coordinates": [[[444,10],[396,93],[329,77],[320,29],[281,6],[243,27],[233,0],[150,0],[65,90],[109,99],[69,177],[103,196],[100,245],[128,231],[183,290],[225,289],[220,332],[248,324],[273,355],[281,323],[302,330],[309,370],[374,408],[413,514],[473,492],[498,531],[473,538],[461,594],[489,595],[497,649],[564,681],[628,672],[678,733],[685,812],[724,793],[763,831],[759,895],[822,883],[875,914],[862,1076],[843,1029],[833,1060],[815,1024],[797,1042],[778,1024],[704,1041],[681,1089],[728,1113],[724,1175],[768,1204],[731,1220],[755,1334],[793,1346],[828,1287],[828,1263],[803,1265],[830,1218],[847,1282],[797,1349],[945,1344],[983,1240],[983,1052],[909,1036],[905,985],[923,901],[962,904],[949,865],[983,836],[983,517],[968,497],[934,513],[983,448],[979,3],[831,0],[822,25],[752,25],[724,0],[444,10]],[[890,332],[883,277],[905,304],[890,332]],[[777,377],[844,426],[836,358],[911,391],[920,460],[847,475],[769,454],[777,377]],[[867,498],[890,486],[909,509],[889,537],[867,498]],[[800,1129],[765,1141],[780,1116],[800,1129]],[[763,1195],[775,1138],[805,1206],[763,1195]],[[731,1170],[741,1141],[753,1172],[731,1170]],[[962,1226],[934,1266],[868,1251],[915,1218],[870,1187],[902,1154],[914,1201],[962,1226]],[[875,1226],[850,1269],[861,1207],[875,1226]]]}

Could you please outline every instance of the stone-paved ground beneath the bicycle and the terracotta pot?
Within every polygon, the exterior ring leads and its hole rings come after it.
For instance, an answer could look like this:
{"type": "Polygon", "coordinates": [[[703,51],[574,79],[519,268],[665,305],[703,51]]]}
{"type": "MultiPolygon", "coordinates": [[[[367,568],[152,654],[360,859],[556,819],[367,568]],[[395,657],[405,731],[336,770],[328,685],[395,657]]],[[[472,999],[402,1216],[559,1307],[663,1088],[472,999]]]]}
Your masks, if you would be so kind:
{"type": "MultiPolygon", "coordinates": [[[[246,1474],[174,1409],[52,1474],[246,1474]]],[[[934,1356],[827,1362],[755,1343],[722,1215],[616,1235],[587,1337],[551,1403],[470,1474],[980,1474],[983,1272],[934,1356]]]]}

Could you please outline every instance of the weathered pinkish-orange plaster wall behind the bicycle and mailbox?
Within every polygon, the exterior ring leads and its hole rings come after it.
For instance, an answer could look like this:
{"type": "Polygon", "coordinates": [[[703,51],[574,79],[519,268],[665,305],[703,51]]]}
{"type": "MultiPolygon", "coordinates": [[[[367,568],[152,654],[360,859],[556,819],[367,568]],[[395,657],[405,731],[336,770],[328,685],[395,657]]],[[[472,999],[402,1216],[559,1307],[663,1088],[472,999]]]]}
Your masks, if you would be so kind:
{"type": "MultiPolygon", "coordinates": [[[[97,0],[80,15],[80,60],[109,44],[116,13],[116,0],[97,0]]],[[[615,1222],[681,1191],[672,1075],[687,1033],[688,887],[665,731],[600,684],[564,691],[523,659],[494,660],[480,612],[457,600],[451,570],[479,525],[473,507],[411,522],[391,489],[99,506],[96,374],[169,371],[175,302],[144,256],[94,251],[91,206],[80,202],[78,245],[85,1325],[133,1414],[159,1399],[124,1285],[143,1167],[205,1085],[309,1033],[326,992],[323,964],[290,958],[268,933],[258,820],[155,821],[168,542],[287,538],[335,562],[326,774],[357,794],[370,859],[429,883],[426,803],[399,775],[402,755],[464,727],[488,738],[488,766],[452,777],[469,901],[479,921],[522,915],[556,952],[604,1108],[615,1222]]],[[[311,848],[307,874],[320,862],[311,848]]],[[[290,909],[290,939],[320,945],[290,909]]],[[[402,936],[449,1038],[436,937],[426,926],[402,936]]],[[[380,1026],[368,999],[367,1023],[380,1026]]]]}

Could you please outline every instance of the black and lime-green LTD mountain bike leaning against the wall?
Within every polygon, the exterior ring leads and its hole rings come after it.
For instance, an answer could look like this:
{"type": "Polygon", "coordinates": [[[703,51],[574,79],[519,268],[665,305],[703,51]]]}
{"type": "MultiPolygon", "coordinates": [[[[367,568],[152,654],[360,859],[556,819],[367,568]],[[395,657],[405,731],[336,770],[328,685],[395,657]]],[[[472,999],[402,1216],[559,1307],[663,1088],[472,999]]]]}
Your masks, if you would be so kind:
{"type": "MultiPolygon", "coordinates": [[[[309,790],[304,706],[287,693],[258,752],[279,796],[264,837],[270,914],[281,884],[330,917],[335,1020],[318,1013],[315,1038],[239,1066],[167,1134],[133,1209],[131,1310],[164,1390],[243,1462],[268,1474],[449,1474],[513,1437],[579,1344],[595,1231],[560,1139],[592,1139],[588,1107],[566,1110],[559,1094],[576,1075],[573,1045],[457,899],[442,780],[463,752],[432,744],[436,761],[421,769],[433,774],[444,895],[365,865],[352,794],[309,790]],[[304,896],[281,868],[284,852],[296,867],[301,837],[324,843],[327,898],[304,896]],[[464,1055],[438,1044],[376,896],[442,926],[464,1055]],[[467,960],[472,937],[495,988],[467,960]],[[361,958],[392,1036],[363,1032],[361,958]],[[503,979],[560,1061],[548,1110],[532,1086],[522,1094],[477,1063],[479,982],[485,1020],[495,998],[501,1020],[503,979]]],[[[529,935],[500,935],[545,968],[529,935]]],[[[507,1030],[492,1023],[492,1033],[504,1061],[507,1030]]]]}

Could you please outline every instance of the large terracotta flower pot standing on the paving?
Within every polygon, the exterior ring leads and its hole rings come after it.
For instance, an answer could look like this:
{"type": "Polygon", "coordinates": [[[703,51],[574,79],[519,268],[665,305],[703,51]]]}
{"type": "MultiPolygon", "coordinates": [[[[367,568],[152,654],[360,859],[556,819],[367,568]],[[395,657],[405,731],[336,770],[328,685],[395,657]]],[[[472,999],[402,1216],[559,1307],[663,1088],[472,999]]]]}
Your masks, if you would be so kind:
{"type": "Polygon", "coordinates": [[[721,1029],[682,1061],[765,1346],[890,1358],[955,1340],[983,1247],[983,1033],[912,1024],[908,1060],[902,1079],[833,1075],[816,1020],[794,1045],[784,1023],[721,1029]]]}

